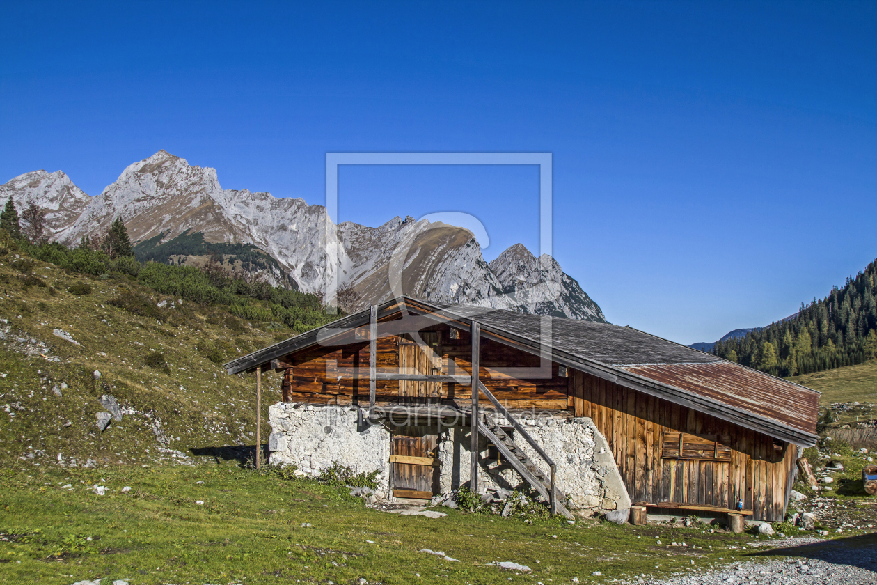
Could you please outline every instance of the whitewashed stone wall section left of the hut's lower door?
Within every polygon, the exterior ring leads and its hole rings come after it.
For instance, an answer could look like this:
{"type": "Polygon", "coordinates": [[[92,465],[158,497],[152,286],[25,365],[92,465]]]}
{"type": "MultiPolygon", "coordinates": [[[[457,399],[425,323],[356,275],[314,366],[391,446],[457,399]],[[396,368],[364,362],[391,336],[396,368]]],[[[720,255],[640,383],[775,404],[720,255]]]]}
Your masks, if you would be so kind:
{"type": "Polygon", "coordinates": [[[380,425],[357,430],[355,408],[276,403],[268,408],[271,465],[292,464],[316,475],[339,461],[356,473],[378,474],[381,496],[389,496],[389,432],[380,425]]]}

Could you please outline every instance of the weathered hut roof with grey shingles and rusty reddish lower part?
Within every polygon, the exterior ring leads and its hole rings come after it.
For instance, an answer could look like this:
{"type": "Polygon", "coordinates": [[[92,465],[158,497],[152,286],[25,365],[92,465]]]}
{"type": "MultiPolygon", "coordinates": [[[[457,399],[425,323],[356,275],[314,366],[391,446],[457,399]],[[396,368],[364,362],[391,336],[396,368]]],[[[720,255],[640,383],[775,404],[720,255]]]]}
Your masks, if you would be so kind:
{"type": "MultiPolygon", "coordinates": [[[[474,320],[482,335],[591,375],[660,396],[709,415],[802,446],[816,444],[819,393],[631,327],[510,310],[427,303],[403,298],[416,315],[440,316],[464,329],[474,320]]],[[[378,306],[379,318],[401,310],[395,300],[378,306]]],[[[287,339],[225,364],[229,374],[317,345],[332,331],[368,322],[368,310],[287,339]]]]}

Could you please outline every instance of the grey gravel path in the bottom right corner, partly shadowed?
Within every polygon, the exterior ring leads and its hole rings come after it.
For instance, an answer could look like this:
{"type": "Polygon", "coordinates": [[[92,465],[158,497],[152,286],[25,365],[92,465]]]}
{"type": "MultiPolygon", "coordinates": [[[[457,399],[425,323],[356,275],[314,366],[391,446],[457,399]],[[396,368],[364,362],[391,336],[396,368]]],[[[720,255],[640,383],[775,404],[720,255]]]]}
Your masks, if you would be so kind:
{"type": "Polygon", "coordinates": [[[655,581],[648,577],[630,583],[641,585],[873,585],[877,583],[877,546],[866,537],[851,539],[785,539],[766,542],[774,546],[758,553],[759,560],[737,562],[721,571],[687,574],[655,581]],[[778,558],[779,557],[779,558],[778,558]],[[790,557],[790,558],[787,558],[790,557]]]}

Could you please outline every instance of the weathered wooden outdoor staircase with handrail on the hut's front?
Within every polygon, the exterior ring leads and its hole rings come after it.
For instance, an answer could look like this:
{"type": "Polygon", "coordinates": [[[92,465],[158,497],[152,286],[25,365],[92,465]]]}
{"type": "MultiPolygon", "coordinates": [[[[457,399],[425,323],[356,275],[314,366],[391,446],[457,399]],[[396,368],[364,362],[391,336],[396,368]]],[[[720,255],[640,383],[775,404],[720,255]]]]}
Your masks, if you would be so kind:
{"type": "Polygon", "coordinates": [[[515,429],[521,439],[530,443],[539,456],[545,460],[550,469],[549,473],[545,474],[545,472],[542,471],[542,469],[540,469],[526,453],[524,453],[524,450],[517,445],[514,439],[511,438],[510,434],[493,420],[482,420],[481,417],[476,417],[473,424],[478,427],[478,432],[488,439],[492,445],[496,446],[496,449],[503,456],[503,459],[507,460],[510,466],[517,471],[522,478],[524,478],[524,481],[529,483],[540,496],[545,498],[545,502],[551,504],[553,513],[562,514],[564,517],[573,519],[573,515],[567,510],[567,507],[563,505],[567,500],[567,496],[564,495],[556,485],[554,485],[554,461],[548,457],[547,453],[543,451],[541,446],[538,446],[530,434],[524,430],[524,427],[511,417],[509,411],[503,407],[502,403],[496,400],[496,397],[490,393],[483,383],[478,382],[478,387],[481,389],[481,394],[487,396],[490,402],[493,403],[496,411],[509,421],[510,425],[515,429]]]}

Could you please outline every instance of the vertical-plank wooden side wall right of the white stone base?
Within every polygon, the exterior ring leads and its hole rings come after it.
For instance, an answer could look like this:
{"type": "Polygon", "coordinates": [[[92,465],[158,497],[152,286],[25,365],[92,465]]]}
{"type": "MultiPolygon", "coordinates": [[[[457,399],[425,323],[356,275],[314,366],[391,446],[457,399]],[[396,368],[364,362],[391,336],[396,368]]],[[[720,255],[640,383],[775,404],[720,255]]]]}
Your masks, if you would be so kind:
{"type": "Polygon", "coordinates": [[[733,509],[742,497],[757,520],[781,520],[796,447],[697,410],[571,370],[575,416],[590,417],[610,444],[634,502],[733,509]],[[663,459],[663,433],[729,435],[731,460],[663,459]]]}

